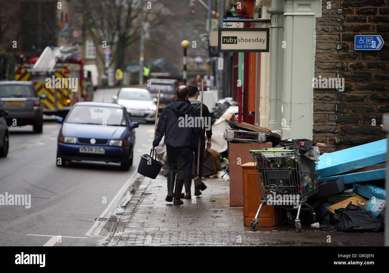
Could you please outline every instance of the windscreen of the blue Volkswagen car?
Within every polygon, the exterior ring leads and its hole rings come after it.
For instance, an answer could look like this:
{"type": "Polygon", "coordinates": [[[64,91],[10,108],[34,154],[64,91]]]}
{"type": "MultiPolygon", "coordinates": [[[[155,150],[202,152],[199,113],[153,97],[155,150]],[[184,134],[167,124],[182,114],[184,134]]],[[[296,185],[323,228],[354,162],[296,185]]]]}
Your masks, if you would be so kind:
{"type": "Polygon", "coordinates": [[[65,122],[112,126],[127,125],[123,109],[89,105],[74,106],[65,122]]]}

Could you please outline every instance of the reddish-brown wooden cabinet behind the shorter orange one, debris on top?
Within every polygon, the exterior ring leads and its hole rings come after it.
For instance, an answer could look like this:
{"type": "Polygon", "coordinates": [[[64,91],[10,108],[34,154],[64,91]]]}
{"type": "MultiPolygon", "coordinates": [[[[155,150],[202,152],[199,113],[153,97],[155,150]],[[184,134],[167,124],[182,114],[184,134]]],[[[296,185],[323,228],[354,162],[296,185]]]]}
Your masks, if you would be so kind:
{"type": "Polygon", "coordinates": [[[243,206],[243,180],[240,165],[252,162],[249,150],[262,150],[271,148],[272,143],[228,143],[228,159],[230,166],[230,206],[243,206]]]}

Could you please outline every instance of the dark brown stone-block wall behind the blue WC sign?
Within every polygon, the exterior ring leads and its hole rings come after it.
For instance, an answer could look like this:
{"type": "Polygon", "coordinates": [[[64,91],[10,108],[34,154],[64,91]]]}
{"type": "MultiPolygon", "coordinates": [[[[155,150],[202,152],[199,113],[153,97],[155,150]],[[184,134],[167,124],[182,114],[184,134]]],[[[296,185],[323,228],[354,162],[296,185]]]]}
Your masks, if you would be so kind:
{"type": "Polygon", "coordinates": [[[385,138],[380,124],[382,113],[389,112],[388,61],[388,0],[322,1],[315,77],[345,79],[343,92],[314,88],[313,139],[327,144],[322,152],[385,138]],[[380,34],[385,44],[380,51],[355,51],[354,36],[361,34],[380,34]]]}

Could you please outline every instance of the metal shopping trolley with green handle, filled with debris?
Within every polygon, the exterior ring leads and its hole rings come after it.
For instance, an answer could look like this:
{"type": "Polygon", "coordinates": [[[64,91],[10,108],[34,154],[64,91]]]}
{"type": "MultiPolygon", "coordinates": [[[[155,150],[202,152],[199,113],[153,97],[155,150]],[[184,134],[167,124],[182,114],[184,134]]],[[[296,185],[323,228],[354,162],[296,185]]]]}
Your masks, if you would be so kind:
{"type": "Polygon", "coordinates": [[[306,201],[319,191],[316,163],[319,159],[288,149],[249,150],[256,163],[258,198],[262,202],[250,223],[252,231],[258,229],[258,215],[265,204],[286,208],[288,222],[294,222],[297,232],[301,231],[301,209],[310,210],[312,222],[316,222],[314,208],[306,201]],[[307,208],[301,208],[303,205],[307,208]],[[291,215],[291,209],[297,209],[296,218],[291,215]]]}

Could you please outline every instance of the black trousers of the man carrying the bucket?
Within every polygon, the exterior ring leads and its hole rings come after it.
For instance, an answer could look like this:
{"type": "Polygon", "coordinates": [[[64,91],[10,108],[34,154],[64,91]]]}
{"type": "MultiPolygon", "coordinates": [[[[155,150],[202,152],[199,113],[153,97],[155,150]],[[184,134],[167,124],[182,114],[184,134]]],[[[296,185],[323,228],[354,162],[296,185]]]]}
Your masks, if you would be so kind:
{"type": "Polygon", "coordinates": [[[176,173],[176,179],[185,179],[191,147],[173,147],[166,145],[167,166],[169,172],[176,173]]]}

